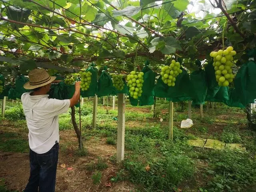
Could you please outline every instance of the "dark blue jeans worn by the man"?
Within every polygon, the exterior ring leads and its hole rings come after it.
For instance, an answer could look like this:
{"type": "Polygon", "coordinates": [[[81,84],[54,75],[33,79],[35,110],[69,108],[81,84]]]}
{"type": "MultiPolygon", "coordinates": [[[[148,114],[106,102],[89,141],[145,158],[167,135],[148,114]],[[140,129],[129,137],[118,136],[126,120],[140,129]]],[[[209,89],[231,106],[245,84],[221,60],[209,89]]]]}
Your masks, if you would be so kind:
{"type": "Polygon", "coordinates": [[[48,152],[37,154],[30,149],[30,177],[24,192],[54,192],[59,144],[48,152]]]}

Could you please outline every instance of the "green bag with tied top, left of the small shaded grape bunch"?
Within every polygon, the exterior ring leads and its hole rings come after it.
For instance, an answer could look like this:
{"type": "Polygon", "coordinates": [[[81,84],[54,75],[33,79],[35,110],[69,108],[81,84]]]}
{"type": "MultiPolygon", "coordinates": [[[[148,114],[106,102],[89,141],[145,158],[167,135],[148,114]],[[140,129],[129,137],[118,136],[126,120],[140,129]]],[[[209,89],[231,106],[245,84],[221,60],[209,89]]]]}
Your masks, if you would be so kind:
{"type": "MultiPolygon", "coordinates": [[[[104,69],[106,69],[106,67],[104,69]]],[[[106,72],[106,70],[102,70],[102,74],[100,75],[98,82],[98,97],[116,94],[116,88],[113,86],[111,76],[106,72]]]]}

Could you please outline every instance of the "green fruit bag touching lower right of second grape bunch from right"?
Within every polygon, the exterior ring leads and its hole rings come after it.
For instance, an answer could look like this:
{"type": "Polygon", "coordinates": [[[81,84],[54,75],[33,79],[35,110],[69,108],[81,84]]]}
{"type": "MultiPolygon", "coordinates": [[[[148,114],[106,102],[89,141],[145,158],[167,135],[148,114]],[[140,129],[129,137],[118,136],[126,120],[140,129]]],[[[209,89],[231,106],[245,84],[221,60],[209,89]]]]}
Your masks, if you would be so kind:
{"type": "Polygon", "coordinates": [[[182,73],[176,77],[175,86],[168,88],[168,101],[181,102],[191,100],[190,97],[190,79],[186,70],[181,68],[182,73]]]}

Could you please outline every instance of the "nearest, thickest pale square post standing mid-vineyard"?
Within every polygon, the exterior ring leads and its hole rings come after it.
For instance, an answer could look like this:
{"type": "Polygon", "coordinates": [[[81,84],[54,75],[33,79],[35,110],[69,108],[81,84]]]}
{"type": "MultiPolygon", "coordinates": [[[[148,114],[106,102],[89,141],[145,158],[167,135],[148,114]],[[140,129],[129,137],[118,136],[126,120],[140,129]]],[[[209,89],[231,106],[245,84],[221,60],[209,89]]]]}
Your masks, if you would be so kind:
{"type": "Polygon", "coordinates": [[[125,94],[118,94],[118,128],[116,161],[124,160],[124,133],[125,133],[125,94]]]}

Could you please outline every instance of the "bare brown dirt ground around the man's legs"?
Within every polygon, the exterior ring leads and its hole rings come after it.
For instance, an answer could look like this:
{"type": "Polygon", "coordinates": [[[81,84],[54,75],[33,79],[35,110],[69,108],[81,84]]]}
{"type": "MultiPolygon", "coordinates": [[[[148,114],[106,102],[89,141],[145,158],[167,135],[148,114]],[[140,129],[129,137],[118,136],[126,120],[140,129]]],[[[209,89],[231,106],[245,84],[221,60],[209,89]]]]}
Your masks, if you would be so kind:
{"type": "MultiPolygon", "coordinates": [[[[77,140],[72,130],[60,132],[60,153],[57,168],[56,192],[130,192],[134,187],[129,182],[112,183],[110,178],[116,176],[120,167],[110,161],[110,157],[116,152],[116,147],[106,144],[105,139],[89,140],[84,145],[88,154],[78,157],[74,154],[77,148],[77,140]],[[101,170],[102,178],[99,184],[93,184],[92,175],[88,171],[88,164],[96,164],[101,157],[108,168],[101,170]],[[66,168],[61,168],[65,164],[66,168]],[[68,170],[67,168],[72,168],[68,170]]],[[[22,191],[29,177],[28,153],[0,153],[0,178],[4,178],[9,190],[22,191]]]]}

